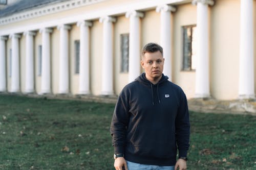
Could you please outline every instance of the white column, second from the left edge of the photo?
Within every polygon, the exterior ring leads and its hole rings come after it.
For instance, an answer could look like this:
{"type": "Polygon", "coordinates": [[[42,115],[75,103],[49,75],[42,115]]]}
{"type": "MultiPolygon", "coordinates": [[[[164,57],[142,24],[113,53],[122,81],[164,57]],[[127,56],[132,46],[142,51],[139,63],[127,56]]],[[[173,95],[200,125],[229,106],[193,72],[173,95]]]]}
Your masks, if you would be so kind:
{"type": "Polygon", "coordinates": [[[12,79],[11,79],[11,90],[10,92],[19,92],[19,34],[12,34],[12,79]]]}

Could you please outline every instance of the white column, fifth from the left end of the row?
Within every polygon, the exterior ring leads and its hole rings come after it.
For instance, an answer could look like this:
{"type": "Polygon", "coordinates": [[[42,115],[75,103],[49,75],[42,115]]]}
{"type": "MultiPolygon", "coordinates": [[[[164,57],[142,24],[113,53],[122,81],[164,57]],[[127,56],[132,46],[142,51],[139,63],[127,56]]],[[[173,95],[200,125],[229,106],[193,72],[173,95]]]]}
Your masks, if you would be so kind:
{"type": "Polygon", "coordinates": [[[59,93],[69,93],[69,30],[68,25],[57,27],[60,34],[59,40],[59,93]]]}

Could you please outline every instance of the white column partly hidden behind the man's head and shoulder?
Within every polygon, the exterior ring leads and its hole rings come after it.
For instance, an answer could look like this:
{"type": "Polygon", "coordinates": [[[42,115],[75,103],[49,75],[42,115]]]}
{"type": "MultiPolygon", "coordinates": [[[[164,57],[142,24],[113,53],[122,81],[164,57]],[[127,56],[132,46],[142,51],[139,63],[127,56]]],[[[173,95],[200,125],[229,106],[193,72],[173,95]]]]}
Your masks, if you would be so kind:
{"type": "Polygon", "coordinates": [[[172,81],[172,29],[170,27],[170,13],[175,12],[176,8],[169,5],[161,5],[157,7],[156,11],[161,12],[160,45],[163,47],[163,73],[169,77],[169,81],[172,81]]]}

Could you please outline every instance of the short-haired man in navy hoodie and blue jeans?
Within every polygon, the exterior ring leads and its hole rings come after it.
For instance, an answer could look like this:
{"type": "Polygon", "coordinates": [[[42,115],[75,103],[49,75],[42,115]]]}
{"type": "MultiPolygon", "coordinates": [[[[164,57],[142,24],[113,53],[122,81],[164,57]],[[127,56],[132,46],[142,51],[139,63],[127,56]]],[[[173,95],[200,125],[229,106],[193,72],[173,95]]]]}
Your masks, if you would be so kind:
{"type": "Polygon", "coordinates": [[[146,44],[141,55],[145,72],[122,89],[112,118],[114,166],[116,170],[184,170],[189,147],[186,96],[162,74],[160,45],[146,44]]]}

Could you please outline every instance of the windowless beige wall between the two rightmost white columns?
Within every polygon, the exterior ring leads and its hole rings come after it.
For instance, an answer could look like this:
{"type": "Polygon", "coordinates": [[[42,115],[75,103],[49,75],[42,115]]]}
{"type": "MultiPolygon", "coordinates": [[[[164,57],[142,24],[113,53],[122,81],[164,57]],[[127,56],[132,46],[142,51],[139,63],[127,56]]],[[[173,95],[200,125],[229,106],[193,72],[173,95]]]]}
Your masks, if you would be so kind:
{"type": "Polygon", "coordinates": [[[216,1],[210,12],[210,92],[217,99],[236,99],[239,89],[240,1],[216,1]]]}

